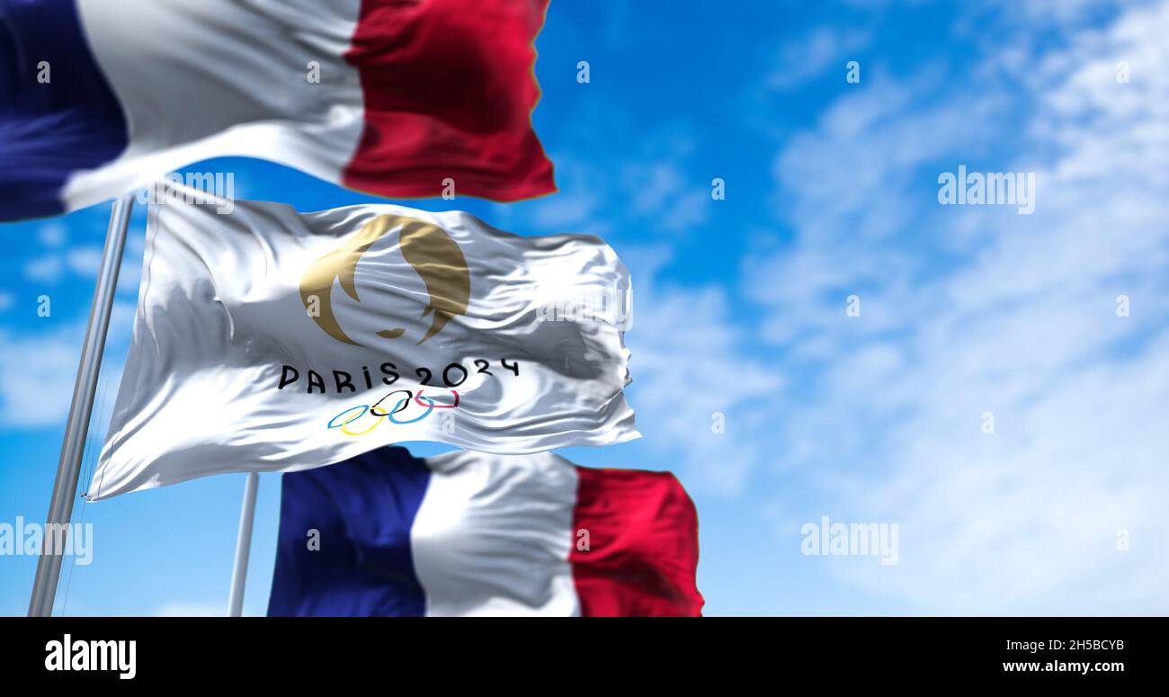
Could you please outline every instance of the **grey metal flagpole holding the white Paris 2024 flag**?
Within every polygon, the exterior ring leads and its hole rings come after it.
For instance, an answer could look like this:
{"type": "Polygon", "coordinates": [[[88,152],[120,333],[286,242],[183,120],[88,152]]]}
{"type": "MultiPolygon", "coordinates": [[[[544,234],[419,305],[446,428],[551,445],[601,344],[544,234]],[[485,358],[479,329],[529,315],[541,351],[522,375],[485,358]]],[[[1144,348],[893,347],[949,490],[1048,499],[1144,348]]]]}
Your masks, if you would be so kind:
{"type": "Polygon", "coordinates": [[[65,422],[65,437],[61,443],[57,478],[53,483],[53,498],[49,499],[48,524],[44,526],[44,538],[41,541],[41,558],[36,561],[33,598],[28,603],[28,616],[30,617],[53,615],[53,602],[57,595],[57,580],[61,577],[63,552],[60,544],[63,541],[63,536],[58,537],[57,531],[64,530],[61,526],[68,525],[72,517],[77,478],[81,476],[82,453],[85,448],[89,417],[94,412],[94,393],[97,391],[97,378],[102,371],[105,333],[110,329],[113,292],[118,285],[118,269],[122,265],[122,251],[126,246],[126,229],[130,227],[130,212],[133,206],[134,196],[130,194],[115,201],[113,211],[110,213],[110,227],[105,233],[105,250],[102,253],[102,269],[97,276],[97,289],[94,291],[94,305],[89,312],[85,343],[81,348],[77,382],[74,384],[72,403],[69,406],[69,420],[65,422]]]}

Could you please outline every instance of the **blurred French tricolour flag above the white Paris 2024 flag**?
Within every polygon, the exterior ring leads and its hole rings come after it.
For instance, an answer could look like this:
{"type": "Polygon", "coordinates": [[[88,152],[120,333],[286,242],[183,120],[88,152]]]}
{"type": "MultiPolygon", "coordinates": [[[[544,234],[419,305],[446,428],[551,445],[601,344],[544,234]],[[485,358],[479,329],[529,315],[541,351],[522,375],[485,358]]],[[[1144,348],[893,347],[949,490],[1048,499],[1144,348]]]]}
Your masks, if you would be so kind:
{"type": "Polygon", "coordinates": [[[547,0],[0,0],[0,220],[194,161],[383,196],[555,191],[532,130],[547,0]]]}

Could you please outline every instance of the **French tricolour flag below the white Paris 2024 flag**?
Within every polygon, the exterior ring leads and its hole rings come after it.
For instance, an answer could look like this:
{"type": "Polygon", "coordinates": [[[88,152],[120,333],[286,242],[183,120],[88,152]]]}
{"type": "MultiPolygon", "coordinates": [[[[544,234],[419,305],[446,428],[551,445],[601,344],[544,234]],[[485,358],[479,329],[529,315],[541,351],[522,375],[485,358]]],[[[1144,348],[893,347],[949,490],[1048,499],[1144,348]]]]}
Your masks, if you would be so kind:
{"type": "Polygon", "coordinates": [[[694,616],[669,472],[383,448],[283,475],[270,616],[694,616]]]}

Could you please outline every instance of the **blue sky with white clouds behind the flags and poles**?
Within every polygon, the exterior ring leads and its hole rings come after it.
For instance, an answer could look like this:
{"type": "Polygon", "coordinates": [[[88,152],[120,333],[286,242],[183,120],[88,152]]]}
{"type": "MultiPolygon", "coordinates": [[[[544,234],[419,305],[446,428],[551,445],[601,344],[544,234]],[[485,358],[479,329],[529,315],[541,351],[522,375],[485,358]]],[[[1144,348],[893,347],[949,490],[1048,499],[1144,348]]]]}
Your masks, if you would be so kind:
{"type": "MultiPolygon", "coordinates": [[[[553,0],[534,124],[561,193],[407,205],[622,255],[644,439],[562,454],[678,474],[708,614],[1163,614],[1167,33],[1169,2],[553,0]],[[940,206],[960,165],[1035,173],[1035,213],[940,206]],[[822,516],[898,524],[898,564],[801,553],[822,516]]],[[[191,168],[302,211],[373,200],[267,163],[191,168]]],[[[0,522],[47,510],[108,215],[0,226],[0,522]]],[[[97,435],[144,230],[138,211],[97,435]]],[[[95,557],[67,560],[57,613],[221,613],[243,478],[77,505],[95,557]]],[[[261,479],[253,614],[278,515],[261,479]]],[[[34,568],[0,557],[0,613],[27,610],[34,568]]]]}

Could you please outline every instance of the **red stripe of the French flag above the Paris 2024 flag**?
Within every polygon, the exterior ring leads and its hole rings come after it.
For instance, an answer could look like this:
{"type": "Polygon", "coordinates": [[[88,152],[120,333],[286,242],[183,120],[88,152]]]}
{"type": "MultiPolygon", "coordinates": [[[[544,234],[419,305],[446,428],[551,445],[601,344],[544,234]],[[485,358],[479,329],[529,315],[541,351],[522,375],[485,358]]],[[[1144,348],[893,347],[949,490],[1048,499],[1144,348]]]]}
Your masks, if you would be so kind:
{"type": "Polygon", "coordinates": [[[548,0],[362,0],[345,55],[365,130],[341,182],[392,198],[516,201],[555,189],[532,127],[548,0]],[[436,165],[436,163],[442,163],[436,165]]]}

